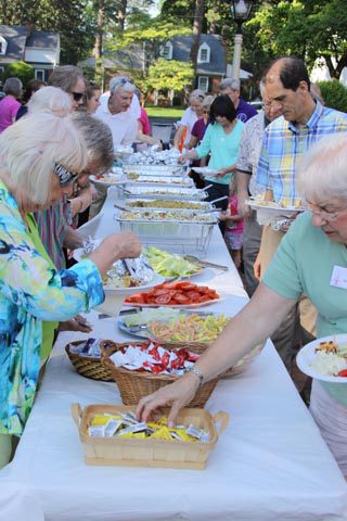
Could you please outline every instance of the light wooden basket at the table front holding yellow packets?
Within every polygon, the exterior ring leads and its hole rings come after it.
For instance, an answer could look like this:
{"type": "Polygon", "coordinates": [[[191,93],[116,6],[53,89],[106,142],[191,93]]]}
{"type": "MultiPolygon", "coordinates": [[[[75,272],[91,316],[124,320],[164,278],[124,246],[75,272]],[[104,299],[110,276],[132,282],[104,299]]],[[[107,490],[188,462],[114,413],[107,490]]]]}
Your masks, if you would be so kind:
{"type": "MultiPolygon", "coordinates": [[[[91,437],[88,427],[94,415],[133,412],[133,407],[124,405],[89,405],[83,410],[79,404],[72,405],[72,415],[85,446],[87,465],[112,465],[120,467],[158,467],[172,469],[196,469],[206,467],[207,458],[229,422],[227,412],[211,417],[207,410],[182,409],[178,423],[204,429],[209,433],[209,442],[179,442],[177,440],[134,440],[125,437],[91,437]],[[216,427],[219,423],[219,427],[216,427]]],[[[167,409],[163,410],[168,414],[167,409]]]]}

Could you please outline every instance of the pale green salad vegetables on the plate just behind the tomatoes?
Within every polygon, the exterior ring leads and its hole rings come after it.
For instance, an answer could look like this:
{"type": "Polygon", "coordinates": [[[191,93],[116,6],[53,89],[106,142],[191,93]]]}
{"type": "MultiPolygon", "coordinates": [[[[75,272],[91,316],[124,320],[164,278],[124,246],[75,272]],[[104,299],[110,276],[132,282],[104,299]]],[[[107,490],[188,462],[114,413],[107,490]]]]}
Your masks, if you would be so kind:
{"type": "Polygon", "coordinates": [[[147,258],[154,271],[167,279],[172,277],[194,277],[201,274],[204,268],[194,262],[187,260],[183,256],[159,250],[155,246],[147,246],[143,254],[147,258]]]}

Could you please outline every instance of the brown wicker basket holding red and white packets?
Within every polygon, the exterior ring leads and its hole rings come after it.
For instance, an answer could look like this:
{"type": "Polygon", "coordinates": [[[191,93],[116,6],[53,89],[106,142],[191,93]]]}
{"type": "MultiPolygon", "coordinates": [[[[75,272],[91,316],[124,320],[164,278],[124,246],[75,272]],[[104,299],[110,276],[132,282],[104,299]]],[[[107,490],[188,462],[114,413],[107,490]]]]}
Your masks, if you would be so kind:
{"type": "MultiPolygon", "coordinates": [[[[144,342],[131,342],[131,345],[143,344],[144,342]]],[[[105,345],[103,342],[101,342],[102,365],[110,370],[113,379],[117,383],[121,402],[125,405],[138,405],[139,401],[143,396],[154,393],[168,383],[175,382],[178,377],[171,377],[169,374],[153,374],[147,371],[130,371],[121,367],[116,367],[110,359],[110,356],[116,351],[127,347],[128,345],[129,342],[123,344],[112,342],[108,345],[105,345]]],[[[165,343],[160,345],[163,347],[167,347],[165,343]]],[[[188,344],[176,343],[176,347],[188,348],[188,344]]],[[[190,407],[204,407],[215,386],[217,385],[218,380],[219,377],[204,383],[198,389],[192,402],[189,404],[190,407]]]]}

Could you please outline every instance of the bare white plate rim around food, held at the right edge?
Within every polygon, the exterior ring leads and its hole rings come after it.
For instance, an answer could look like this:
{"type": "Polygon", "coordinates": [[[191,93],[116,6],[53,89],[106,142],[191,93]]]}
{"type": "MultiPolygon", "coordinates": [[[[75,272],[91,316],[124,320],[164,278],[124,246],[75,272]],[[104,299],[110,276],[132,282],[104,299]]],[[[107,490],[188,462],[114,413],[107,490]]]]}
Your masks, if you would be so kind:
{"type": "Polygon", "coordinates": [[[335,341],[337,344],[346,344],[347,334],[324,336],[322,339],[313,340],[309,344],[305,345],[305,347],[303,347],[296,355],[297,366],[303,372],[305,372],[305,374],[316,378],[317,380],[322,380],[323,382],[347,383],[347,378],[345,377],[330,377],[327,374],[317,372],[311,368],[311,365],[317,356],[316,346],[318,346],[320,342],[329,342],[331,340],[335,341]]]}

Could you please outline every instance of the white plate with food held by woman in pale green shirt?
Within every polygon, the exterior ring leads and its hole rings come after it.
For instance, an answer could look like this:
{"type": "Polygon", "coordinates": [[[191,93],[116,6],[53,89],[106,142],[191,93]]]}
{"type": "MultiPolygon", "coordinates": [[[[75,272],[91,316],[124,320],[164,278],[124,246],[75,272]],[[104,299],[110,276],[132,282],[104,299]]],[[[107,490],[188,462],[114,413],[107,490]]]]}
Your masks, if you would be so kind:
{"type": "Polygon", "coordinates": [[[347,334],[313,340],[298,352],[296,363],[311,378],[347,383],[347,334]]]}

